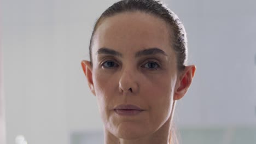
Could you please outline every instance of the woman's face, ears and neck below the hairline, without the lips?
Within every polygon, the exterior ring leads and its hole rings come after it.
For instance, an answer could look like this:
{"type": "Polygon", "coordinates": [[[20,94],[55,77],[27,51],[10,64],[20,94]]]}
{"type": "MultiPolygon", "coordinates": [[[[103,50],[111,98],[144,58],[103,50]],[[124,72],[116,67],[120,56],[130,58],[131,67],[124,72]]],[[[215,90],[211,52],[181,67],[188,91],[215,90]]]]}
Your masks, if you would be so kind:
{"type": "Polygon", "coordinates": [[[104,19],[92,44],[92,65],[82,61],[104,124],[104,143],[168,143],[173,104],[187,92],[195,65],[178,71],[165,21],[142,12],[104,19]],[[120,116],[114,107],[144,111],[120,116]]]}

